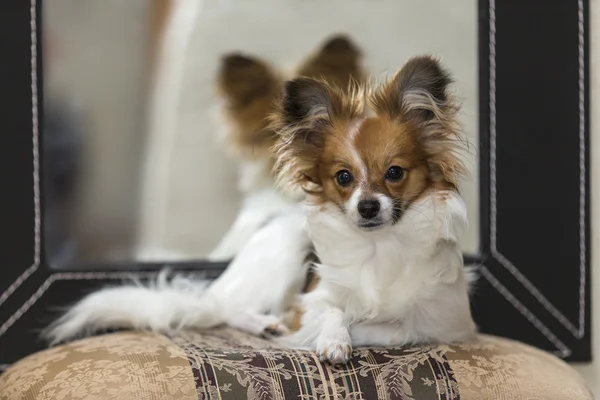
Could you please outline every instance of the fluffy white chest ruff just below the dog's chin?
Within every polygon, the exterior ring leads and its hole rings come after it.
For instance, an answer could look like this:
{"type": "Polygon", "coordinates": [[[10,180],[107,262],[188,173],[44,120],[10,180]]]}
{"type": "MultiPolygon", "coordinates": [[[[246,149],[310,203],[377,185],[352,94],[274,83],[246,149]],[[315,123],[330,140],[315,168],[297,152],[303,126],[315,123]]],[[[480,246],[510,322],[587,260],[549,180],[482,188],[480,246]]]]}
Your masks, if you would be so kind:
{"type": "Polygon", "coordinates": [[[397,320],[427,290],[435,244],[412,228],[361,232],[333,213],[309,215],[318,274],[350,319],[397,320]]]}

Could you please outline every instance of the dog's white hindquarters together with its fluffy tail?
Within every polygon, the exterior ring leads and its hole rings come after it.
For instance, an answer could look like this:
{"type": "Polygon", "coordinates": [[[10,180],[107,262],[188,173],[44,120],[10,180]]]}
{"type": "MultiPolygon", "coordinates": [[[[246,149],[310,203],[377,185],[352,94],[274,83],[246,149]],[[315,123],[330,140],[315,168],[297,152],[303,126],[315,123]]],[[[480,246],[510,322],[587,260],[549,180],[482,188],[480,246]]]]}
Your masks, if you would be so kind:
{"type": "Polygon", "coordinates": [[[291,307],[306,277],[310,241],[300,205],[258,229],[213,283],[166,273],[84,297],[52,324],[53,343],[113,328],[170,332],[227,324],[252,334],[285,328],[276,315],[291,307]],[[268,330],[268,331],[267,331],[268,330]]]}

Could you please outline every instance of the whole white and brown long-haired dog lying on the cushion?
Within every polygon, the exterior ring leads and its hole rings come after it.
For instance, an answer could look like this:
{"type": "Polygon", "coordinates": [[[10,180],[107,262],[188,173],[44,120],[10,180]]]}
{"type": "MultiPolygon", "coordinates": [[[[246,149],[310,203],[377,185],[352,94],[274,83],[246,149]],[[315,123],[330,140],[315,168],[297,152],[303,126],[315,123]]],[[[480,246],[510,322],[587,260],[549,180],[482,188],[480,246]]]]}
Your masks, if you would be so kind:
{"type": "Polygon", "coordinates": [[[47,336],[220,324],[285,334],[300,298],[299,326],[278,341],[335,364],[352,346],[470,339],[470,279],[458,245],[467,223],[457,188],[463,142],[449,84],[430,57],[411,59],[375,88],[287,82],[279,101],[265,103],[272,117],[261,137],[273,145],[279,182],[307,194],[304,206],[292,201],[263,221],[213,283],[163,275],[149,287],[104,289],[47,336]],[[318,279],[302,294],[312,246],[318,279]]]}

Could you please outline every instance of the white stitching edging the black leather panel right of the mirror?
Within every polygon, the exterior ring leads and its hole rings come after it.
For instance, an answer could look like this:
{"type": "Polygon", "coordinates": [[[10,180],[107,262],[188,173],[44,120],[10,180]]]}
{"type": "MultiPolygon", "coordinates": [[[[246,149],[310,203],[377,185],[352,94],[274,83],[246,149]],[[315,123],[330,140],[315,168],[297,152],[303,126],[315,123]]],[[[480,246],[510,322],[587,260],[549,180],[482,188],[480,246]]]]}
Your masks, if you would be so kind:
{"type": "Polygon", "coordinates": [[[496,189],[496,4],[490,0],[490,250],[494,257],[550,312],[573,336],[581,339],[585,332],[585,104],[583,64],[583,0],[579,0],[579,140],[580,140],[580,284],[579,328],[576,328],[550,301],[497,249],[497,189],[496,189]]]}

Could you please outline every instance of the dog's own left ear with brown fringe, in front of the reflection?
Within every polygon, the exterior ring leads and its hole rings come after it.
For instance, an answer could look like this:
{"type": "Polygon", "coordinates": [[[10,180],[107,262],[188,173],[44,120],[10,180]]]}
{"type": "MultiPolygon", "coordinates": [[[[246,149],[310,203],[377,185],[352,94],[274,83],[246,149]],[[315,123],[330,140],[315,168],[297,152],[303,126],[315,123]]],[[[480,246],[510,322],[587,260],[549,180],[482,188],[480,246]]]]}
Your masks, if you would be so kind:
{"type": "Polygon", "coordinates": [[[276,133],[274,172],[282,186],[320,185],[318,164],[339,92],[312,78],[288,81],[271,115],[276,133]]]}

